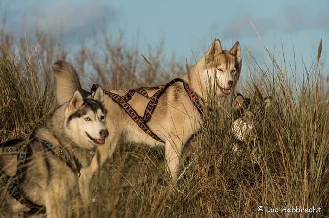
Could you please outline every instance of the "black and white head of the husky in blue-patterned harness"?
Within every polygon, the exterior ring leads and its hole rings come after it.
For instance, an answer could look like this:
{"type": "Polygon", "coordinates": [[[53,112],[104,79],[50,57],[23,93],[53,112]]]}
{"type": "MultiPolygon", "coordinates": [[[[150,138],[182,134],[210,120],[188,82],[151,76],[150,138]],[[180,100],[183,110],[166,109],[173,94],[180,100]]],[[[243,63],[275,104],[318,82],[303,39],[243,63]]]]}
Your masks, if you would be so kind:
{"type": "Polygon", "coordinates": [[[105,127],[107,110],[104,93],[98,88],[93,98],[84,98],[77,90],[65,109],[65,128],[79,146],[92,148],[103,145],[109,136],[105,127]]]}

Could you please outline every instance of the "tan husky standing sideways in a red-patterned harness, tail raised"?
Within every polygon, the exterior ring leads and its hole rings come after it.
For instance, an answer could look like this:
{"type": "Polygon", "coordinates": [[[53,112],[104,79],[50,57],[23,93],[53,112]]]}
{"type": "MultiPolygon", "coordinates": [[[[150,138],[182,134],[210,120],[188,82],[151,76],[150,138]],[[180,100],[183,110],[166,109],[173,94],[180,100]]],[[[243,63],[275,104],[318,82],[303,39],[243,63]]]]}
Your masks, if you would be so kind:
{"type": "MultiPolygon", "coordinates": [[[[223,50],[216,39],[208,52],[181,78],[153,88],[104,91],[110,136],[105,145],[97,148],[91,166],[82,169],[80,188],[86,190],[83,186],[88,185],[93,173],[123,142],[164,145],[168,170],[176,180],[182,148],[202,124],[202,105],[209,100],[208,91],[215,88],[218,99],[226,97],[234,89],[240,72],[239,42],[230,50],[223,50]]],[[[79,89],[84,97],[90,96],[82,90],[78,74],[69,63],[56,62],[53,73],[59,104],[67,101],[75,89],[79,89]]],[[[96,88],[94,85],[92,91],[96,88]]]]}

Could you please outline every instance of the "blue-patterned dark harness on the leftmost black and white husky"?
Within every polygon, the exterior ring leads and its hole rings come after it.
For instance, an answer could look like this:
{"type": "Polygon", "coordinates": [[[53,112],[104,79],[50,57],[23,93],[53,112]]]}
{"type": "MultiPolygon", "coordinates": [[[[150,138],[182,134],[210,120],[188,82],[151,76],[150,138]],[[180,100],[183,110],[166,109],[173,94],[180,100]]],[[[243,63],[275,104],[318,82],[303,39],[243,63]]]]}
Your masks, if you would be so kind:
{"type": "MultiPolygon", "coordinates": [[[[31,139],[29,139],[31,140],[31,139]]],[[[73,163],[71,161],[71,156],[68,155],[63,148],[60,148],[58,146],[53,146],[49,142],[45,142],[46,147],[53,151],[54,154],[61,157],[63,160],[66,161],[66,164],[77,173],[80,173],[80,165],[75,162],[75,166],[73,167],[73,163]]],[[[17,160],[18,160],[18,166],[17,171],[14,176],[9,176],[7,173],[4,172],[4,170],[0,169],[0,183],[4,185],[9,193],[18,200],[21,204],[27,206],[31,210],[29,213],[36,213],[39,211],[44,211],[43,205],[37,205],[34,204],[32,201],[30,201],[26,196],[24,196],[24,193],[20,189],[20,182],[24,180],[25,176],[25,170],[26,170],[26,159],[31,155],[31,150],[29,147],[28,140],[26,139],[14,139],[10,141],[6,141],[4,143],[0,144],[0,155],[7,155],[7,154],[16,154],[17,160]],[[17,145],[20,144],[20,145],[17,145]],[[17,145],[17,146],[11,146],[11,145],[17,145]]]]}

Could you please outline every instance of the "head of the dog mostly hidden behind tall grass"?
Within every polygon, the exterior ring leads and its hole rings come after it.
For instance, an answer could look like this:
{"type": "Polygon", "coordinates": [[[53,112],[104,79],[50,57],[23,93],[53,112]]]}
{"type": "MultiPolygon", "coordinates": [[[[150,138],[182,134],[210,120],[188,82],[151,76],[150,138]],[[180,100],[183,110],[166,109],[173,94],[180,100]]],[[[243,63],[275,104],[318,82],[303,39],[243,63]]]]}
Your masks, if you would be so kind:
{"type": "Polygon", "coordinates": [[[245,98],[240,93],[236,94],[232,102],[231,128],[236,139],[247,142],[250,137],[255,137],[262,131],[261,122],[264,121],[265,111],[270,104],[271,97],[262,97],[257,88],[254,99],[245,98]]]}

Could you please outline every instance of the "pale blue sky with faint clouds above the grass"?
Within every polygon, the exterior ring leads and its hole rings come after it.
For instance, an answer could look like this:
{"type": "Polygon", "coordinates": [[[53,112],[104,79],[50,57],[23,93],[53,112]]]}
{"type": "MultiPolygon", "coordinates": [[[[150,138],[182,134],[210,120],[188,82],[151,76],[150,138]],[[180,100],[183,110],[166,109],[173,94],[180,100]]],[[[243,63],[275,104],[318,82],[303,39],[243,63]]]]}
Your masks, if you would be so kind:
{"type": "MultiPolygon", "coordinates": [[[[310,67],[323,38],[323,60],[329,48],[328,0],[2,0],[0,13],[6,12],[7,28],[20,34],[23,24],[30,34],[37,26],[42,31],[64,32],[68,45],[82,38],[92,40],[94,32],[106,27],[111,34],[123,29],[128,43],[137,38],[138,46],[156,47],[164,40],[167,59],[193,62],[215,38],[229,49],[235,41],[247,47],[257,59],[266,56],[263,43],[281,57],[283,43],[286,59],[297,64],[302,58],[310,67]],[[252,26],[252,24],[254,27],[252,26]],[[327,41],[328,40],[328,41],[327,41]],[[275,49],[274,49],[275,45],[275,49]]],[[[328,64],[325,63],[325,69],[328,64]]],[[[244,67],[244,66],[243,66],[244,67]]],[[[246,69],[246,68],[245,68],[246,69]]]]}

